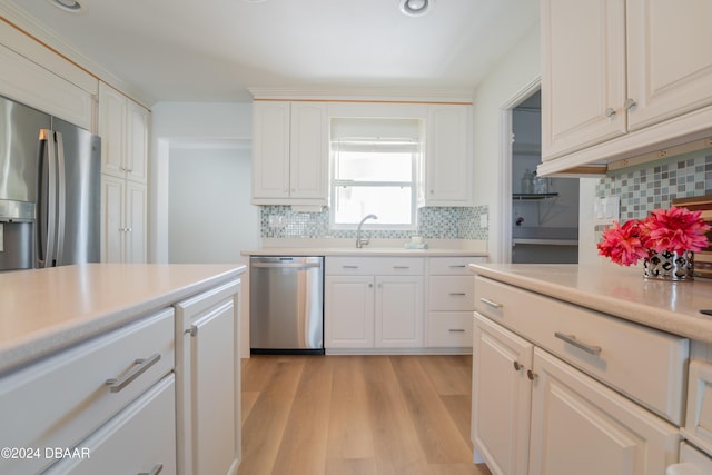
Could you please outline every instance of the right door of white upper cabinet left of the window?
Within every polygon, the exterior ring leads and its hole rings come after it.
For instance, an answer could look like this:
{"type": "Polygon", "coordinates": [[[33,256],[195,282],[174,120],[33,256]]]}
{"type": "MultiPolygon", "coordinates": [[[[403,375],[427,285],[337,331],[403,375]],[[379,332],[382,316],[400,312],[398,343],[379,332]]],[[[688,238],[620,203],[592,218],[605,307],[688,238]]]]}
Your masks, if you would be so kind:
{"type": "Polygon", "coordinates": [[[289,196],[326,200],[328,116],[326,103],[291,105],[289,196]]]}

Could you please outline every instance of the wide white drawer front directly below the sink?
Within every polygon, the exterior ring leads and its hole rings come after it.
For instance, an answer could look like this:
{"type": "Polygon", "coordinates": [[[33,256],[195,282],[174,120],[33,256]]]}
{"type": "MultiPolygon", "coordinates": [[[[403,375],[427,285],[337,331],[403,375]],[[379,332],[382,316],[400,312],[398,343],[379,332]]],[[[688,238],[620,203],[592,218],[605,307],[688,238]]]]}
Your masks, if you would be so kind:
{"type": "Polygon", "coordinates": [[[421,257],[327,257],[327,276],[418,276],[423,275],[421,257]]]}

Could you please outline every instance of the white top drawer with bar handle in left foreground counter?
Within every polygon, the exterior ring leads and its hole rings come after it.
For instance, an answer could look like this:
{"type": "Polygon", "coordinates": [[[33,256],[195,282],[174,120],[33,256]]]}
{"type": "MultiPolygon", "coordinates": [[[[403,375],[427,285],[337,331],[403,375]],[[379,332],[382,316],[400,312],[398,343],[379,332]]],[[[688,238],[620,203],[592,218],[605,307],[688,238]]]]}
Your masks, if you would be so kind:
{"type": "MultiPolygon", "coordinates": [[[[3,377],[0,420],[12,431],[0,431],[0,446],[73,447],[172,370],[174,331],[166,309],[3,377]],[[108,379],[129,382],[112,392],[108,379]]],[[[0,459],[0,473],[51,462],[0,459]]]]}

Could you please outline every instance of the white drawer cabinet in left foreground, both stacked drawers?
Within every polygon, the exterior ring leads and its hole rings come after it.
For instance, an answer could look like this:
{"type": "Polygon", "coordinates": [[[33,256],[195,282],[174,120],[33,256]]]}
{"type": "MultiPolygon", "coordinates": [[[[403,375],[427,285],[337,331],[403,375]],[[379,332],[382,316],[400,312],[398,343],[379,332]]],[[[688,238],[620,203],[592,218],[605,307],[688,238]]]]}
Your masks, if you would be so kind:
{"type": "Polygon", "coordinates": [[[95,474],[171,467],[175,412],[155,412],[151,400],[172,404],[174,334],[167,308],[0,378],[0,447],[26,451],[0,458],[0,473],[41,473],[53,463],[67,463],[58,474],[75,473],[75,463],[77,473],[95,474]],[[29,448],[38,452],[30,457],[29,448]],[[89,459],[82,457],[87,449],[89,459]],[[62,451],[77,457],[70,461],[62,451]],[[96,469],[91,458],[100,454],[126,461],[96,469]]]}

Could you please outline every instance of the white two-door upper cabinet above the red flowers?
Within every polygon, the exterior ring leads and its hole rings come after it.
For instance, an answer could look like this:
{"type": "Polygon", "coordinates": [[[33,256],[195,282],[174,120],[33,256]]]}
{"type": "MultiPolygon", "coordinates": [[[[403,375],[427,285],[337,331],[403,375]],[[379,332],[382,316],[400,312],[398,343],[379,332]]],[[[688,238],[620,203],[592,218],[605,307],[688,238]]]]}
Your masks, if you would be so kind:
{"type": "Polygon", "coordinates": [[[540,172],[712,133],[712,2],[542,0],[540,172]]]}

